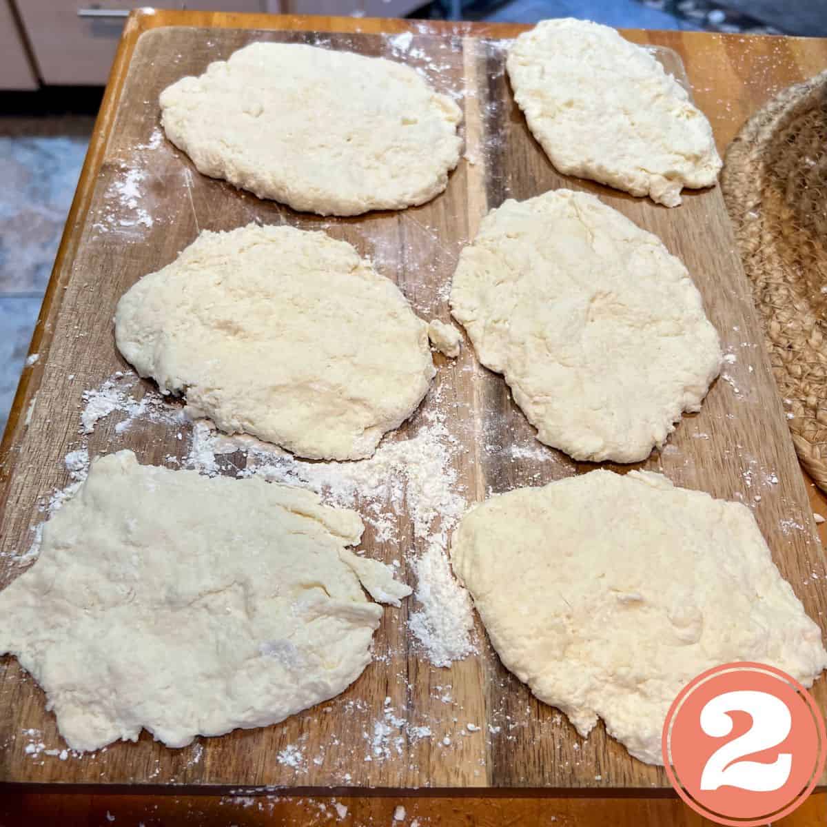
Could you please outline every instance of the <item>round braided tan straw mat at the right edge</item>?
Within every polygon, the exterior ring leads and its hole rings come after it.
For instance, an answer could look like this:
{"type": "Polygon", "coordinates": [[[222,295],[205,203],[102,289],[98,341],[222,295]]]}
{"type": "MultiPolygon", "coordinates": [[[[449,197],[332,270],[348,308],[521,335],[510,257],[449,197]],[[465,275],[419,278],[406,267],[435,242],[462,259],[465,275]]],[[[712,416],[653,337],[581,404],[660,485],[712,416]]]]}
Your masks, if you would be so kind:
{"type": "Polygon", "coordinates": [[[721,186],[796,452],[827,491],[827,72],[743,126],[721,186]]]}

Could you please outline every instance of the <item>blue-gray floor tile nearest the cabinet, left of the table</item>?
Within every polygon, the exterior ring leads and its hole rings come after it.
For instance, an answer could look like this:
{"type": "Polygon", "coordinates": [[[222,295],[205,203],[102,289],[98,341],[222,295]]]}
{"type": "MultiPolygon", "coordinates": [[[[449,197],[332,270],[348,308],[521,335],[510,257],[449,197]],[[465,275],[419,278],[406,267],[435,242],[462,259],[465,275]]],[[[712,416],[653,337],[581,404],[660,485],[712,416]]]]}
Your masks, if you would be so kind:
{"type": "Polygon", "coordinates": [[[88,144],[77,123],[64,135],[2,134],[0,124],[0,295],[45,290],[88,144]]]}

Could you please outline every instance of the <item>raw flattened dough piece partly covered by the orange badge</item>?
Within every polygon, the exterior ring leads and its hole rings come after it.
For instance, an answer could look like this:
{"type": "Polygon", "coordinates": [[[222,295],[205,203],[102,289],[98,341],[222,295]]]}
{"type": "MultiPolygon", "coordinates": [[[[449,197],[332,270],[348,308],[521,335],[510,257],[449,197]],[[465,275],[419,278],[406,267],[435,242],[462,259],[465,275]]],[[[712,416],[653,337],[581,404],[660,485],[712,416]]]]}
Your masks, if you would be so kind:
{"type": "Polygon", "coordinates": [[[667,710],[700,672],[756,661],[810,686],[827,667],[752,512],[660,474],[494,496],[462,519],[452,562],[504,665],[581,736],[600,716],[648,763],[662,763],[667,710]]]}

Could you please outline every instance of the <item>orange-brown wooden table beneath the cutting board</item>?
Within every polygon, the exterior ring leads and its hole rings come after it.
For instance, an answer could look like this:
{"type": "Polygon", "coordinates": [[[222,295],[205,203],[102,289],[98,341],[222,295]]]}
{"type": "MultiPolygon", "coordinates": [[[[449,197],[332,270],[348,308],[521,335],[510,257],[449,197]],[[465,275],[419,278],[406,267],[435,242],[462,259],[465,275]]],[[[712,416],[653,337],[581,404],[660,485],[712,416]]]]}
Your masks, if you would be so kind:
{"type": "MultiPolygon", "coordinates": [[[[313,31],[401,32],[514,36],[525,26],[410,22],[337,17],[266,17],[208,12],[139,13],[124,31],[122,49],[134,44],[142,31],[156,26],[244,26],[313,31]]],[[[723,152],[743,121],[779,89],[816,74],[827,66],[827,40],[786,37],[720,36],[695,32],[628,31],[630,40],[668,46],[686,65],[696,102],[715,130],[723,152]]],[[[116,63],[117,65],[117,63],[116,63]]],[[[73,256],[77,216],[84,214],[93,188],[90,170],[97,167],[123,77],[113,72],[90,144],[72,212],[69,214],[59,259],[73,256]]],[[[47,295],[46,302],[49,302],[47,295]]],[[[35,342],[36,345],[36,342],[35,342]]],[[[12,419],[22,413],[23,390],[17,395],[12,419]]],[[[815,511],[827,515],[827,498],[806,480],[815,511]]],[[[822,542],[827,527],[820,528],[822,542]]],[[[669,798],[509,798],[376,797],[348,798],[343,825],[392,823],[394,809],[404,805],[404,823],[419,825],[700,825],[705,823],[681,802],[669,798]]],[[[88,794],[19,794],[0,797],[0,827],[17,824],[70,825],[260,825],[339,823],[331,802],[323,799],[267,798],[232,801],[215,796],[125,796],[88,794]],[[327,809],[323,809],[326,807],[327,809]],[[114,822],[107,816],[114,817],[114,822]]],[[[787,827],[827,824],[827,796],[812,796],[800,810],[777,822],[787,827]]]]}

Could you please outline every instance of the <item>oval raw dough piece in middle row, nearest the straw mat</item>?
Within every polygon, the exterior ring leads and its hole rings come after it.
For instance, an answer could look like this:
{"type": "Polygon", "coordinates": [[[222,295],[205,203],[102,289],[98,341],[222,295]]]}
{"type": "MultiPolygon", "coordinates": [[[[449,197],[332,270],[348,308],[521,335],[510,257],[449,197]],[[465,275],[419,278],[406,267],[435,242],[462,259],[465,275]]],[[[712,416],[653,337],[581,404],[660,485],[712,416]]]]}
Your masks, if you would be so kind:
{"type": "Polygon", "coordinates": [[[569,189],[492,210],[461,253],[451,307],[538,439],[577,460],[645,459],[720,368],[681,261],[569,189]]]}

